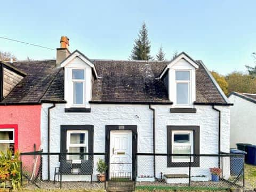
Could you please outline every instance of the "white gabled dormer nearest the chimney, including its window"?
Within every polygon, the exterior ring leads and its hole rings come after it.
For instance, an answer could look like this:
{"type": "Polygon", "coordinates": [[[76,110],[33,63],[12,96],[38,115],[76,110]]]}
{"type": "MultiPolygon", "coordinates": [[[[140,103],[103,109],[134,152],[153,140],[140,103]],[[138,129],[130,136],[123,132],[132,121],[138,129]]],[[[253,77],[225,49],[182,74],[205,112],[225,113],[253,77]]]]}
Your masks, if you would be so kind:
{"type": "Polygon", "coordinates": [[[60,66],[65,68],[66,108],[90,108],[93,75],[98,78],[93,63],[81,52],[74,51],[60,66]]]}

